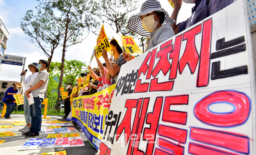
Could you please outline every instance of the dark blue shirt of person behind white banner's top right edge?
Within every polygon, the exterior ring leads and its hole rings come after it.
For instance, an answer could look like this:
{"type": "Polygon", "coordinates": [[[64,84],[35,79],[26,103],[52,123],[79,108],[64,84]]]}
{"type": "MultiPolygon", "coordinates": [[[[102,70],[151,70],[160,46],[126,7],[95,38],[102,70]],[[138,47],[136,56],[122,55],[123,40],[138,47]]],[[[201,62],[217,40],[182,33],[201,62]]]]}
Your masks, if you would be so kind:
{"type": "Polygon", "coordinates": [[[211,0],[208,6],[206,1],[207,0],[195,1],[195,6],[192,8],[192,15],[186,21],[177,24],[179,25],[179,32],[203,21],[207,17],[233,3],[233,0],[211,0]]]}

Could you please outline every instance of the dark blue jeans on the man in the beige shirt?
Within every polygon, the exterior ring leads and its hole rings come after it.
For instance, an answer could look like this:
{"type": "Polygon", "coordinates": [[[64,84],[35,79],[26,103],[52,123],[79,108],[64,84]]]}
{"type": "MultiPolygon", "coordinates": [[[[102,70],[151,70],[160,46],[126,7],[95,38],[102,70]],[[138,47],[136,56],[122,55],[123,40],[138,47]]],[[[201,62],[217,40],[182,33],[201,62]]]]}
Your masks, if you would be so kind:
{"type": "Polygon", "coordinates": [[[31,128],[30,133],[39,134],[41,130],[42,123],[42,114],[41,114],[41,106],[42,106],[42,98],[39,96],[34,97],[34,103],[29,106],[30,116],[31,116],[31,128]]]}

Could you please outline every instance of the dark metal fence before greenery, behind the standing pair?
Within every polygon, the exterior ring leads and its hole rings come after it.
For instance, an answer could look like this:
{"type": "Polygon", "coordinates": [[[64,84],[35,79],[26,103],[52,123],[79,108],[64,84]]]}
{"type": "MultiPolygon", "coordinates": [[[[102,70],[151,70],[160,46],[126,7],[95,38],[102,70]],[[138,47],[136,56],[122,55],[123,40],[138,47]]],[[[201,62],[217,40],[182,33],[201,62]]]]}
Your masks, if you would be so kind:
{"type": "MultiPolygon", "coordinates": [[[[5,96],[5,93],[0,92],[0,111],[3,110],[3,97],[5,96]]],[[[64,100],[62,100],[62,96],[55,96],[55,97],[48,97],[48,103],[47,103],[47,114],[64,114],[64,100]]],[[[44,113],[44,107],[45,105],[42,104],[42,113],[44,113]]],[[[15,110],[22,112],[24,111],[23,105],[17,106],[15,104],[15,110]]]]}

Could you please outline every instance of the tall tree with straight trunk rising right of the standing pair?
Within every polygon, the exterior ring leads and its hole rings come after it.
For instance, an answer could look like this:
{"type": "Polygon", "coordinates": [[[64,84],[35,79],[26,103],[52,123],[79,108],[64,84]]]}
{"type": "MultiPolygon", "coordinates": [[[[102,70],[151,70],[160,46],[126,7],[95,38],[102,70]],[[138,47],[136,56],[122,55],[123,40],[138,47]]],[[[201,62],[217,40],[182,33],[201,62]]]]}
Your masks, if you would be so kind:
{"type": "MultiPolygon", "coordinates": [[[[62,62],[60,67],[60,77],[58,90],[62,86],[64,74],[65,52],[68,46],[81,43],[86,37],[81,38],[84,28],[89,29],[91,15],[87,13],[87,0],[40,0],[44,9],[49,12],[52,19],[55,20],[64,30],[62,62]]],[[[89,33],[89,31],[88,31],[89,33]]],[[[60,91],[58,91],[60,96],[60,91]]]]}

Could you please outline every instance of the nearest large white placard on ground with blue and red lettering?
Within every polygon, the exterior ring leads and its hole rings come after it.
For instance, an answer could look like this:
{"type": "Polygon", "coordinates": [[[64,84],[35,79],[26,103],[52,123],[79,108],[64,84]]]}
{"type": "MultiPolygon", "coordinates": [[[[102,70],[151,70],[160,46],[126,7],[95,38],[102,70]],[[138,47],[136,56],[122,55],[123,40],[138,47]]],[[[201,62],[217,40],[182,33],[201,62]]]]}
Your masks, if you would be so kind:
{"type": "Polygon", "coordinates": [[[29,139],[19,150],[84,146],[81,137],[29,139]]]}

